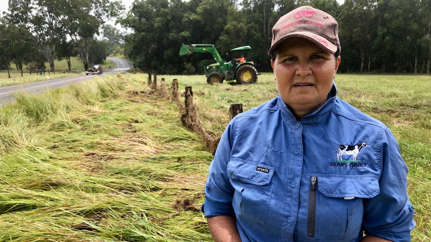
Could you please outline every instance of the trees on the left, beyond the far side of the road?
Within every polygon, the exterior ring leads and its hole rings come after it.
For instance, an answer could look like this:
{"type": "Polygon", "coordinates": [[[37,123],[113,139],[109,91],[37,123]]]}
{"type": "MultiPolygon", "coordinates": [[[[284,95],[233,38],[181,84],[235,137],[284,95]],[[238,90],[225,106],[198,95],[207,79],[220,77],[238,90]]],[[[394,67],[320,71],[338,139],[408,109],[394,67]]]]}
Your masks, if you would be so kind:
{"type": "Polygon", "coordinates": [[[106,58],[107,36],[118,31],[104,23],[117,17],[124,6],[119,0],[8,0],[8,12],[0,18],[0,69],[29,66],[30,71],[54,71],[54,61],[79,55],[84,69],[106,58]]]}

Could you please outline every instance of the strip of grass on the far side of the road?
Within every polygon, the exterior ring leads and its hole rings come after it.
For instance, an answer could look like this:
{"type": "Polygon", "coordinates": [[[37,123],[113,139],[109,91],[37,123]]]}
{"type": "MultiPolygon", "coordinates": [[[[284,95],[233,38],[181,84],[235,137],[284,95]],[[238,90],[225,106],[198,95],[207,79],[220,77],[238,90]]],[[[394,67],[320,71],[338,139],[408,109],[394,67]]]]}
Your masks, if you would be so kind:
{"type": "MultiPolygon", "coordinates": [[[[108,59],[99,64],[103,70],[115,67],[114,63],[108,59]]],[[[48,71],[49,63],[46,62],[45,67],[45,72],[42,72],[42,75],[39,75],[38,72],[34,71],[30,73],[27,66],[24,65],[21,76],[21,70],[17,70],[15,65],[11,64],[9,73],[7,73],[7,70],[0,70],[0,87],[85,74],[82,60],[78,56],[70,58],[70,71],[68,70],[67,62],[65,60],[54,61],[54,72],[48,71]]]]}

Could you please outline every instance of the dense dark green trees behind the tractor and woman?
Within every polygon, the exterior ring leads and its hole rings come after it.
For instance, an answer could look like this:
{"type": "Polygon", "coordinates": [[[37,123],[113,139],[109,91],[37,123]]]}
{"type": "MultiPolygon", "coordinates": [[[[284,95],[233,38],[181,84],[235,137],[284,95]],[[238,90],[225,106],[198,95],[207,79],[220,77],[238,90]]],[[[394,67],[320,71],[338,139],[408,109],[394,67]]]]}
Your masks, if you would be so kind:
{"type": "Polygon", "coordinates": [[[221,54],[250,45],[248,59],[271,71],[271,27],[304,4],[337,19],[340,72],[430,72],[430,0],[136,0],[121,20],[133,30],[125,54],[146,72],[191,74],[202,73],[212,56],[178,56],[181,43],[214,44],[221,54]]]}

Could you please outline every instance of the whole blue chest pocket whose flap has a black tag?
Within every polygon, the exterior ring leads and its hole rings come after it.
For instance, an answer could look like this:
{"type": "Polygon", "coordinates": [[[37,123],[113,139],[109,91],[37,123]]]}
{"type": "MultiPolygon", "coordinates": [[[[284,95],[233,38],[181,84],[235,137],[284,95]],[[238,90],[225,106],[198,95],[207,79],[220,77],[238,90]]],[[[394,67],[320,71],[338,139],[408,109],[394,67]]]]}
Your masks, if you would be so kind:
{"type": "Polygon", "coordinates": [[[235,189],[233,209],[238,220],[265,224],[271,202],[274,169],[266,165],[249,164],[231,160],[227,176],[235,189]]]}

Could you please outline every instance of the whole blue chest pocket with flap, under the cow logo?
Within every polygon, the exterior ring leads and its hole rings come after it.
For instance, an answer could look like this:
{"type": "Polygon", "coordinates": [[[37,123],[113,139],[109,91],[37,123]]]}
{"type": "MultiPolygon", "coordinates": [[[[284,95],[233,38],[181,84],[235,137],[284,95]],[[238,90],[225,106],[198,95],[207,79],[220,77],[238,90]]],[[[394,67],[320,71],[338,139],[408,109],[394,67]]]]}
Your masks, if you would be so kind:
{"type": "Polygon", "coordinates": [[[318,177],[314,238],[351,241],[357,238],[363,217],[363,199],[379,194],[374,177],[318,177]]]}

